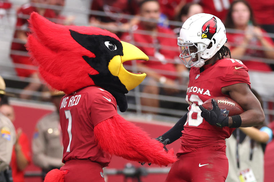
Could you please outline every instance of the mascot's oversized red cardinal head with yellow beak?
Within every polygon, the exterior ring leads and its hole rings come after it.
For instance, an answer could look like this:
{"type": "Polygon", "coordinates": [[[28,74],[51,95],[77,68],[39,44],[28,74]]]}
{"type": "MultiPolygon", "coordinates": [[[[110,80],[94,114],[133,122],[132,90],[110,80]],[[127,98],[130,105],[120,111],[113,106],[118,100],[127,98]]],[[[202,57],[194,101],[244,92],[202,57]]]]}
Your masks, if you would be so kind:
{"type": "Polygon", "coordinates": [[[70,94],[96,85],[116,98],[120,111],[127,109],[124,94],[146,74],[128,72],[123,62],[147,61],[147,55],[100,28],[57,25],[35,12],[29,23],[33,33],[28,36],[27,49],[51,87],[70,94]]]}

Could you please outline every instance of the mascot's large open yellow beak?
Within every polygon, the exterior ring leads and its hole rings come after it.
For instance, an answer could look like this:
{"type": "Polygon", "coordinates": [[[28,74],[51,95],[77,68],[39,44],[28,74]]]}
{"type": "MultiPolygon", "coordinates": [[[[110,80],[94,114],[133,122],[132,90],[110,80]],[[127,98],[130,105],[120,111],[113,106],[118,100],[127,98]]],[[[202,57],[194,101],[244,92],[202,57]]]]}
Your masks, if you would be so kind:
{"type": "Polygon", "coordinates": [[[148,56],[132,44],[123,41],[121,41],[121,43],[124,55],[114,56],[108,64],[108,69],[112,75],[118,76],[122,84],[124,84],[129,91],[138,86],[145,79],[146,73],[131,73],[124,68],[123,63],[130,60],[148,61],[148,56]]]}

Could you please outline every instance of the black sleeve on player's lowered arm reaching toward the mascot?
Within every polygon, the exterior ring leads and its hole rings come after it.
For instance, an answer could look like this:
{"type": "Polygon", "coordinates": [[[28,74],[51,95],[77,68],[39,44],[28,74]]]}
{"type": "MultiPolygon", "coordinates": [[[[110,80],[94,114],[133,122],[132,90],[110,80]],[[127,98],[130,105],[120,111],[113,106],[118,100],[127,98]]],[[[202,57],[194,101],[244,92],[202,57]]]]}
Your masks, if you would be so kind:
{"type": "MultiPolygon", "coordinates": [[[[169,139],[170,142],[167,144],[171,144],[175,140],[178,140],[180,137],[182,137],[182,130],[184,130],[184,124],[186,123],[186,120],[188,118],[188,113],[186,113],[183,117],[177,121],[177,123],[166,133],[164,133],[161,137],[161,139],[166,140],[169,139]]],[[[159,137],[158,137],[159,138],[159,137]]]]}

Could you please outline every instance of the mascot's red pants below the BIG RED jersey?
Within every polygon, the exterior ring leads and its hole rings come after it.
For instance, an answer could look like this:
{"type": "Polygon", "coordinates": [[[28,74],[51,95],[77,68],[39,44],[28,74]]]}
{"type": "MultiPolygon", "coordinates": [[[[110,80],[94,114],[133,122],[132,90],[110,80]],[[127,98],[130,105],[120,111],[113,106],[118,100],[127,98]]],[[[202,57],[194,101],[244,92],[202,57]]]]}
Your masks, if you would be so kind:
{"type": "Polygon", "coordinates": [[[65,182],[105,182],[102,166],[90,160],[69,160],[60,168],[68,170],[65,182]]]}

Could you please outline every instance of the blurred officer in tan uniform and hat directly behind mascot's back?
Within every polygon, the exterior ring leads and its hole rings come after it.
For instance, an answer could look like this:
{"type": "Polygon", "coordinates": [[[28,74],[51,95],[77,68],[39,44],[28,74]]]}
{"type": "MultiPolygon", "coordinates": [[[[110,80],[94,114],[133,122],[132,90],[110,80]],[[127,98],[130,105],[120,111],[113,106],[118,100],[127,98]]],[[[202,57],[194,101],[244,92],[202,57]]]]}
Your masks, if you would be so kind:
{"type": "Polygon", "coordinates": [[[33,162],[42,168],[42,178],[51,169],[59,169],[64,165],[62,163],[63,144],[59,119],[59,104],[64,95],[64,92],[51,91],[51,102],[56,106],[56,111],[38,121],[33,135],[33,162]]]}

